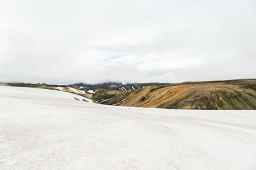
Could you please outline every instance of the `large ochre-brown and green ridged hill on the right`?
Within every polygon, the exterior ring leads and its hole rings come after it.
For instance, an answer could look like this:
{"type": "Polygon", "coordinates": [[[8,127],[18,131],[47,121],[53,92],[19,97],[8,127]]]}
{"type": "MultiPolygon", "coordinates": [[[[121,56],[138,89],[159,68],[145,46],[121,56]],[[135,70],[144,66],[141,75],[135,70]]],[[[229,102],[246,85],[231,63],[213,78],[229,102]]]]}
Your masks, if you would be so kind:
{"type": "Polygon", "coordinates": [[[144,108],[256,110],[256,80],[184,82],[129,90],[101,104],[144,108]]]}

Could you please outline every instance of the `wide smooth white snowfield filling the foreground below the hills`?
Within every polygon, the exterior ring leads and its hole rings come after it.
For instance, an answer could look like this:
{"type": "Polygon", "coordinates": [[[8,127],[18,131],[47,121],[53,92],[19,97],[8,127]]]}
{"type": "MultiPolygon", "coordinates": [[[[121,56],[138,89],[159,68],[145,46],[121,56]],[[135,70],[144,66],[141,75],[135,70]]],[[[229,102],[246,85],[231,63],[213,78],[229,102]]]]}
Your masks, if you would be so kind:
{"type": "Polygon", "coordinates": [[[0,87],[0,169],[256,169],[256,111],[105,106],[0,87]]]}

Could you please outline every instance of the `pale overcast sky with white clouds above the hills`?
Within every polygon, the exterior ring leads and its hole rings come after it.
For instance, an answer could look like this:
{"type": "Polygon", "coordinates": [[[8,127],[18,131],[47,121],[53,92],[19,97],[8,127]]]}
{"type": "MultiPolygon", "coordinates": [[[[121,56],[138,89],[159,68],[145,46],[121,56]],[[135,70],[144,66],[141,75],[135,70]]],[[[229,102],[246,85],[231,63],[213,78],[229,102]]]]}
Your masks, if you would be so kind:
{"type": "Polygon", "coordinates": [[[256,78],[256,1],[0,1],[0,82],[256,78]]]}

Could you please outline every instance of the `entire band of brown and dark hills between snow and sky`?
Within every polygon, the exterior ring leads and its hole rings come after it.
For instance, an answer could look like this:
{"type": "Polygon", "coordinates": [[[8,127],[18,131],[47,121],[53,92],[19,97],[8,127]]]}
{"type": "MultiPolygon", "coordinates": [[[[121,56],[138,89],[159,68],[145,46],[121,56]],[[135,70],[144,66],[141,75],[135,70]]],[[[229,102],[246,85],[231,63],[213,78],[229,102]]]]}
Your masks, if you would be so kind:
{"type": "Polygon", "coordinates": [[[256,110],[256,79],[183,83],[107,82],[48,85],[2,83],[16,87],[61,90],[88,97],[94,103],[145,108],[195,110],[256,110]]]}

